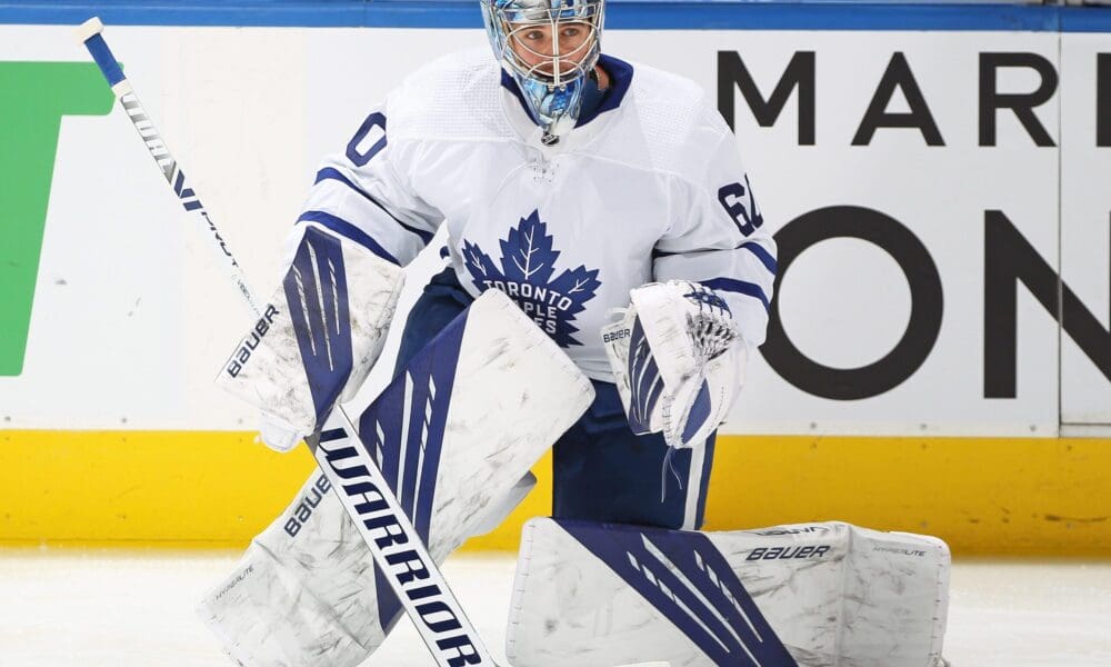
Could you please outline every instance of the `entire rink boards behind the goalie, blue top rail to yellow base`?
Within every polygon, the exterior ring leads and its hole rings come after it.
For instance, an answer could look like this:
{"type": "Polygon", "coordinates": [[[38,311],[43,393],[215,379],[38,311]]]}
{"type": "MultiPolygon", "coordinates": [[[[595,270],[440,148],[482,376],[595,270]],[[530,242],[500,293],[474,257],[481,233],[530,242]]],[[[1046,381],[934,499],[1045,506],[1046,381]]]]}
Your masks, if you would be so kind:
{"type": "MultiPolygon", "coordinates": [[[[484,44],[464,3],[276,6],[102,12],[260,292],[317,160],[411,68],[484,44]]],[[[723,428],[709,527],[843,519],[957,552],[1111,552],[1111,11],[678,7],[614,3],[607,50],[715,100],[781,252],[779,345],[723,428]],[[799,82],[760,120],[745,76],[764,102],[799,82]],[[1051,81],[1024,121],[983,112],[989,83],[1051,81]],[[918,127],[883,126],[912,110],[918,127]],[[821,238],[845,220],[879,232],[821,238]],[[1062,327],[1045,301],[1065,288],[1062,327]]],[[[0,541],[242,544],[309,459],[252,444],[257,416],[212,386],[244,316],[73,41],[87,13],[0,8],[0,541]]],[[[540,477],[523,514],[547,510],[540,477]]],[[[472,547],[509,548],[519,525],[472,547]]]]}

